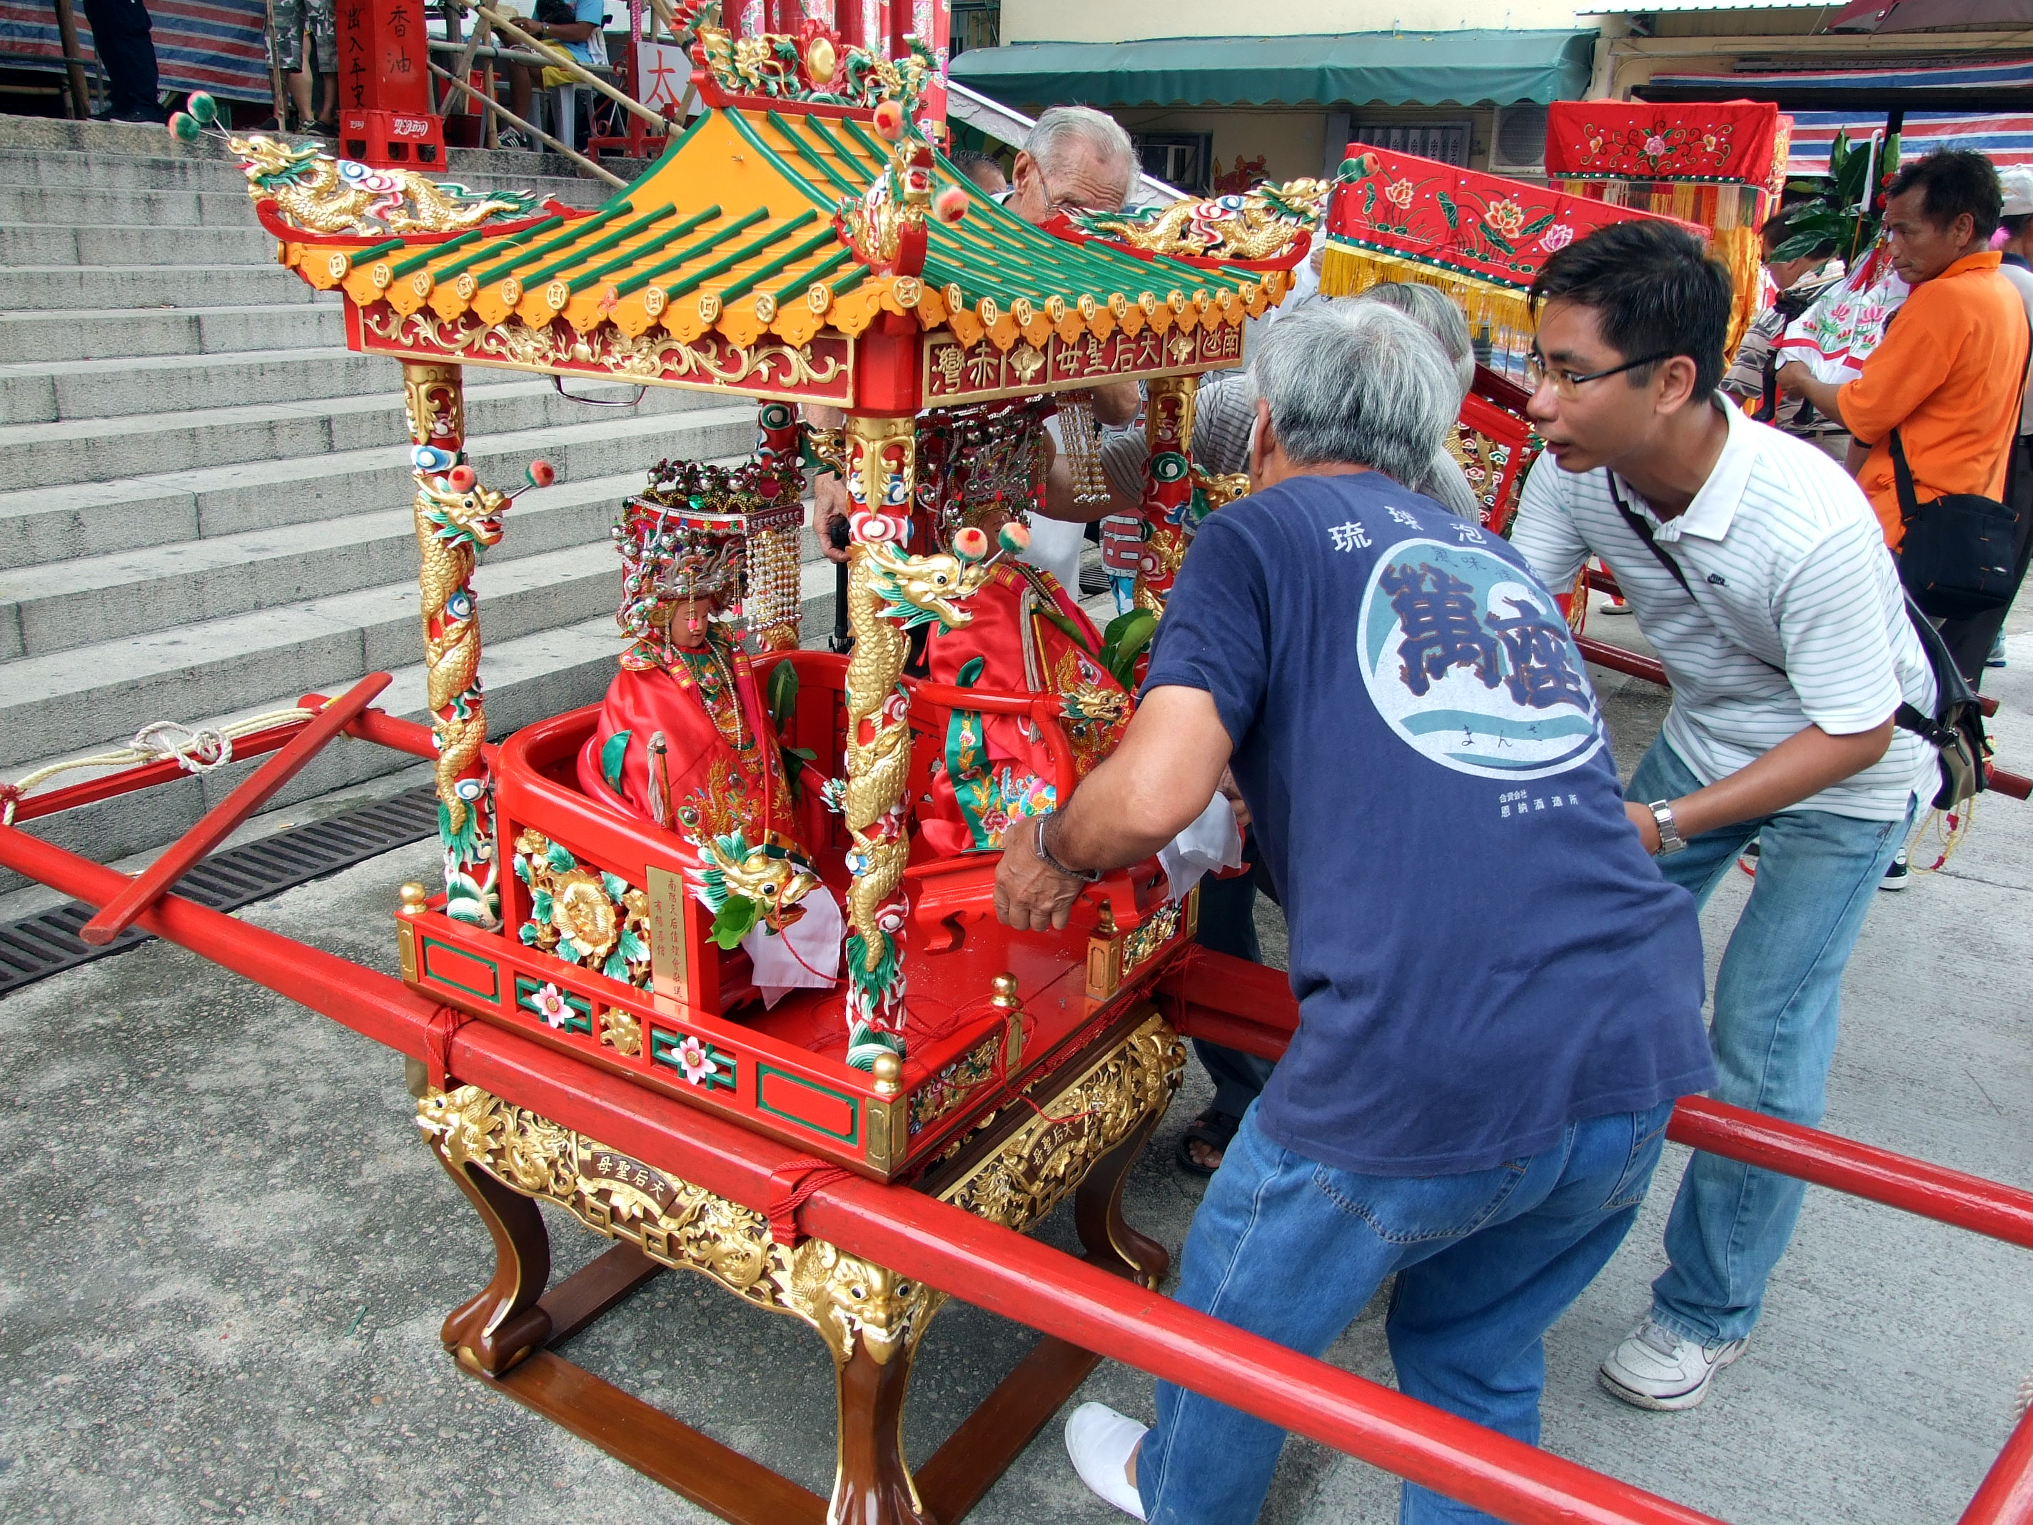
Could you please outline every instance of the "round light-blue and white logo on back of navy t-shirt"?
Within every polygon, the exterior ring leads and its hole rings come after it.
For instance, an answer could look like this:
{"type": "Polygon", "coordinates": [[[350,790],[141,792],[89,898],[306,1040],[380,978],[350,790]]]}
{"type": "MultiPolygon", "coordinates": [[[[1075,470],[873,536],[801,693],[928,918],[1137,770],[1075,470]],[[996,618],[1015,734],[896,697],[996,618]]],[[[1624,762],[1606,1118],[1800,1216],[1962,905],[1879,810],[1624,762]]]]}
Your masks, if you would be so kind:
{"type": "Polygon", "coordinates": [[[1358,632],[1376,714],[1441,767],[1545,779],[1604,744],[1559,606],[1486,549],[1393,545],[1362,592],[1358,632]]]}

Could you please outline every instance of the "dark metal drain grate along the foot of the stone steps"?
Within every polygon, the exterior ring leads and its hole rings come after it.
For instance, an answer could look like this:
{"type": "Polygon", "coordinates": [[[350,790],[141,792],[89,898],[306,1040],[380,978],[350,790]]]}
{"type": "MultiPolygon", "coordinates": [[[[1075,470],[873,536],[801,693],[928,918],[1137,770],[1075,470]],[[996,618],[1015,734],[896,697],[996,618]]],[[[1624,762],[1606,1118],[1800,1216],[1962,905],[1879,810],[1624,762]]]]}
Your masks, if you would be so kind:
{"type": "MultiPolygon", "coordinates": [[[[213,852],[177,880],[171,893],[213,911],[238,911],[242,905],[266,901],[270,895],[352,868],[435,832],[437,789],[419,785],[258,842],[213,852]]],[[[0,996],[152,937],[146,931],[124,931],[104,948],[91,948],[77,937],[89,919],[89,905],[69,901],[53,911],[0,925],[0,996]]]]}

